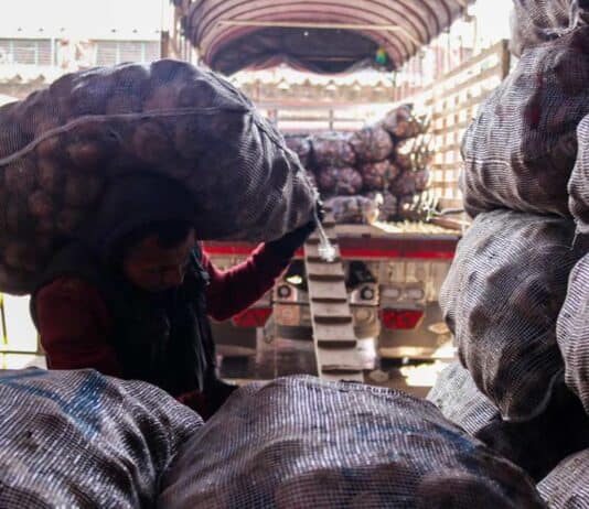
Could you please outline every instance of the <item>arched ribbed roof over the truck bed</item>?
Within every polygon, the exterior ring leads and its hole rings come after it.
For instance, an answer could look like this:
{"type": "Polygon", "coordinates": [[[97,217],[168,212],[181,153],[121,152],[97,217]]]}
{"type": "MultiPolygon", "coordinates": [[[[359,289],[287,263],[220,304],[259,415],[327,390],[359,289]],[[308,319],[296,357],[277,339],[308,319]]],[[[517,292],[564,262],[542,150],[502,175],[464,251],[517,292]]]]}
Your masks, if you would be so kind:
{"type": "Polygon", "coordinates": [[[345,71],[384,50],[399,67],[448,28],[472,0],[200,0],[184,30],[204,62],[232,74],[287,61],[345,71]]]}

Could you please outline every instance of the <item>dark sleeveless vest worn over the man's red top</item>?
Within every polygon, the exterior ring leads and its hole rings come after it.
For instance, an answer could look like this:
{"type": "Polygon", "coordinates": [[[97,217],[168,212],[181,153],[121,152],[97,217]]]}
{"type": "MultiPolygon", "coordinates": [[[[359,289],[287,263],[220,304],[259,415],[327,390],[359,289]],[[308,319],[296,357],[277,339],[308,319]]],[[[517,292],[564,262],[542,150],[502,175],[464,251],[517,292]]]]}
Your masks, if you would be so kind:
{"type": "MultiPolygon", "coordinates": [[[[144,380],[172,396],[207,392],[216,380],[215,348],[206,316],[208,274],[196,248],[183,284],[159,294],[137,289],[81,243],[72,243],[52,261],[31,300],[58,278],[76,278],[96,288],[113,318],[113,345],[124,378],[144,380]]],[[[36,322],[36,320],[35,320],[36,322]]]]}

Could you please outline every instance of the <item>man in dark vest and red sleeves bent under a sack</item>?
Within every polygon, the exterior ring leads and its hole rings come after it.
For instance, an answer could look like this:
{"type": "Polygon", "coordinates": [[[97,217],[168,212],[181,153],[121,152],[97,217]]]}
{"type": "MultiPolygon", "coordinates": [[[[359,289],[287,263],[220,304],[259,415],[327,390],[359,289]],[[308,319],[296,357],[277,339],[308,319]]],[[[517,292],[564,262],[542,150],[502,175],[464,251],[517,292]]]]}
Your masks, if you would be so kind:
{"type": "Polygon", "coordinates": [[[188,192],[136,174],[106,189],[92,224],[49,264],[32,314],[51,369],[94,368],[151,382],[204,418],[234,390],[217,379],[207,316],[258,301],[315,227],[311,221],[218,271],[200,248],[188,192]]]}

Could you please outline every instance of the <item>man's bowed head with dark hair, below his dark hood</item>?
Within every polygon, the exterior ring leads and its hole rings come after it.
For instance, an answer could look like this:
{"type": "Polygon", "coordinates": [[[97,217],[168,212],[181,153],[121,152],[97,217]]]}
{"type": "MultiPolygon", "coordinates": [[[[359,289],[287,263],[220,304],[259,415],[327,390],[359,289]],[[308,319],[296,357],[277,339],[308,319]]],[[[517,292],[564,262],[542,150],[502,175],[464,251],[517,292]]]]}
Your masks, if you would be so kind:
{"type": "Polygon", "coordinates": [[[116,259],[132,284],[148,292],[162,292],[182,284],[195,242],[189,223],[154,223],[126,236],[116,259]]]}

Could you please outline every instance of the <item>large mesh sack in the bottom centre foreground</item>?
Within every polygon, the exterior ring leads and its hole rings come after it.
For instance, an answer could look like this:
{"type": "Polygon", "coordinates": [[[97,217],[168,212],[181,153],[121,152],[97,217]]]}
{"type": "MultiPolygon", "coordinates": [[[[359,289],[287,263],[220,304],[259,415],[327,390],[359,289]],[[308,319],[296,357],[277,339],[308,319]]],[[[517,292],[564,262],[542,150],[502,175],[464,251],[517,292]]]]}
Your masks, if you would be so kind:
{"type": "Polygon", "coordinates": [[[174,508],[536,508],[527,476],[397,391],[293,377],[234,393],[186,443],[174,508]]]}

